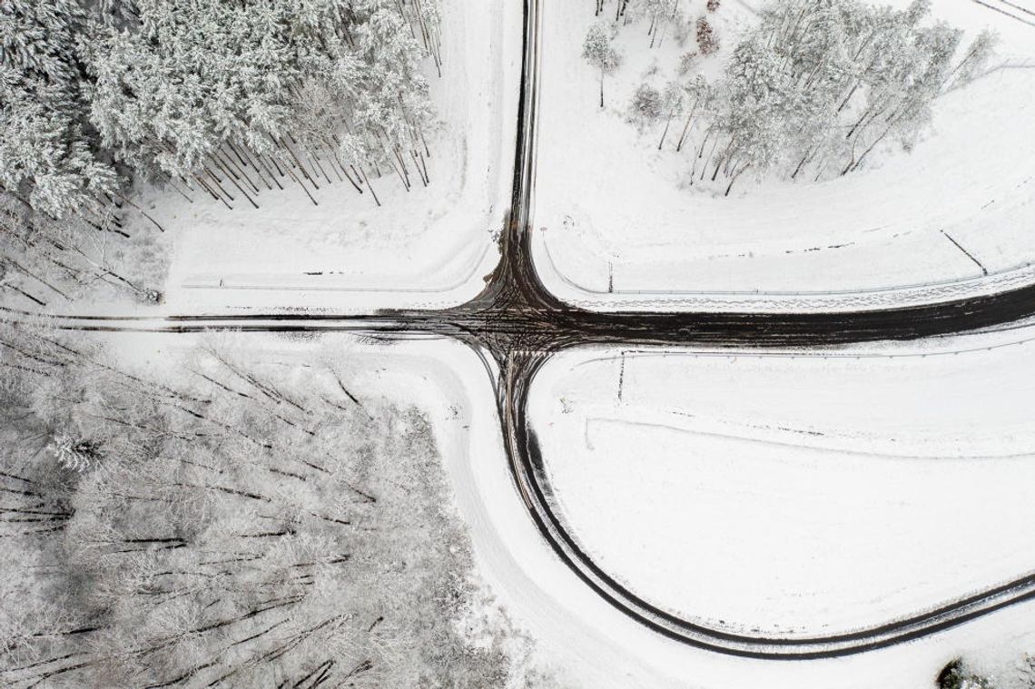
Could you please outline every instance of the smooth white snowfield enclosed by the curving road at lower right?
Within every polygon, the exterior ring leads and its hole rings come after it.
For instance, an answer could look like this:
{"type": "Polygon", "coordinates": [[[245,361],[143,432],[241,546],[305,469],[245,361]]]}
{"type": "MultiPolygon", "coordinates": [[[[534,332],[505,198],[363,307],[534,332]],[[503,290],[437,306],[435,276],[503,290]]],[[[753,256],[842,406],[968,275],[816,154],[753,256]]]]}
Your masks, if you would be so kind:
{"type": "Polygon", "coordinates": [[[970,346],[581,351],[532,414],[564,517],[632,591],[718,628],[837,632],[1035,571],[1035,342],[943,354],[970,346]]]}

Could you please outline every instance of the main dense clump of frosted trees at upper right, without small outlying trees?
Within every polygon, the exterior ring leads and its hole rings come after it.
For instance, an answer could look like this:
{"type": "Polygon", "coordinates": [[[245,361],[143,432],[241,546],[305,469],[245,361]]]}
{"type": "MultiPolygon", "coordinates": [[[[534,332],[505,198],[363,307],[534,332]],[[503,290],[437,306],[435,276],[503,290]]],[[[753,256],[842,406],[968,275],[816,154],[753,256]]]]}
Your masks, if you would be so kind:
{"type": "MultiPolygon", "coordinates": [[[[929,10],[929,0],[903,10],[857,0],[768,6],[721,81],[706,89],[696,179],[722,177],[729,192],[747,171],[819,179],[859,170],[891,143],[910,149],[938,95],[978,73],[995,42],[980,34],[957,57],[962,32],[928,22],[929,10]]],[[[701,22],[699,39],[708,43],[710,25],[701,22]]]]}

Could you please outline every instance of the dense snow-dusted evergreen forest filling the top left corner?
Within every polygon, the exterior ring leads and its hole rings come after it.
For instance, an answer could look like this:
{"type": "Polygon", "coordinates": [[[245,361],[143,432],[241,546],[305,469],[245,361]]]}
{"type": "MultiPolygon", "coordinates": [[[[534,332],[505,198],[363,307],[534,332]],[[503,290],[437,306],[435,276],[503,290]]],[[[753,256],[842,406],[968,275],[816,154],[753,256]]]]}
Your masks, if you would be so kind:
{"type": "Polygon", "coordinates": [[[5,287],[36,305],[98,284],[160,299],[164,228],[135,182],[228,207],[426,184],[422,65],[440,52],[435,0],[3,3],[5,287]]]}

